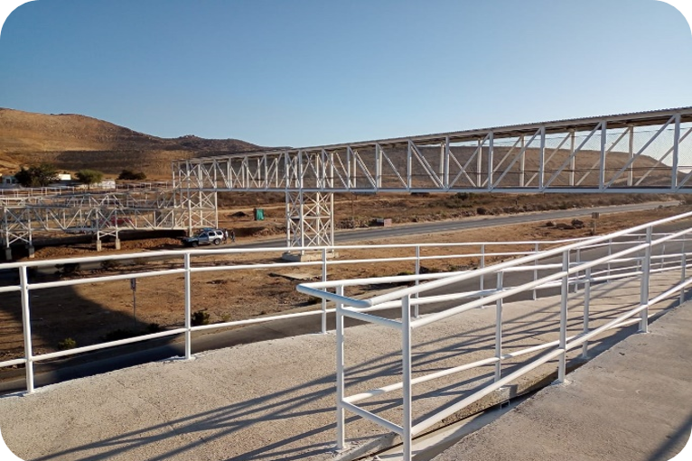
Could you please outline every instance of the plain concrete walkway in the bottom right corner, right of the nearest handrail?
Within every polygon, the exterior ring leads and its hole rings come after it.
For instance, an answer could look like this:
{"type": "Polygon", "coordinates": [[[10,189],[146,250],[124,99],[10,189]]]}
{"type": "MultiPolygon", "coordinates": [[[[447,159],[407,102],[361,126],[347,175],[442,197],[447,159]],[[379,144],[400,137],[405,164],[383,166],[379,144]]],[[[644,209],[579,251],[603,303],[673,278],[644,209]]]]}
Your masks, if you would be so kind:
{"type": "Polygon", "coordinates": [[[435,461],[671,459],[692,429],[691,308],[667,313],[650,334],[626,338],[435,461]]]}

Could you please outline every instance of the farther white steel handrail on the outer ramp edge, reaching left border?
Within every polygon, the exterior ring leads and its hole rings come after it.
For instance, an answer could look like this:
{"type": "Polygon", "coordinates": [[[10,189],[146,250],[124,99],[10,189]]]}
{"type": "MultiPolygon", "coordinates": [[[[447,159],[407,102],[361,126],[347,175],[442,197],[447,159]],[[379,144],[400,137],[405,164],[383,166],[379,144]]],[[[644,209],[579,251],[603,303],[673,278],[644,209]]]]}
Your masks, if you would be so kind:
{"type": "MultiPolygon", "coordinates": [[[[563,239],[563,240],[556,240],[556,241],[530,241],[530,242],[520,242],[519,244],[531,244],[535,245],[535,248],[538,248],[540,245],[554,245],[554,244],[561,244],[565,242],[573,242],[573,241],[581,241],[584,239],[563,239]]],[[[159,337],[174,337],[180,334],[184,334],[185,336],[185,357],[190,358],[191,356],[191,343],[192,343],[192,337],[191,334],[192,332],[195,331],[203,331],[203,330],[211,330],[211,329],[217,329],[217,328],[224,328],[224,327],[238,327],[238,326],[244,326],[244,325],[250,325],[250,324],[256,324],[256,323],[262,323],[262,322],[268,322],[268,321],[273,321],[273,320],[278,320],[278,319],[287,319],[287,318],[300,318],[300,317],[308,317],[308,316],[317,316],[321,315],[323,317],[323,332],[326,332],[326,316],[328,314],[332,314],[335,312],[335,309],[326,309],[326,306],[323,302],[323,309],[321,310],[311,310],[307,312],[298,312],[298,313],[289,313],[289,314],[281,314],[281,315],[272,315],[272,316],[267,316],[267,317],[261,317],[261,318],[250,318],[250,319],[244,319],[244,320],[235,320],[235,321],[229,321],[229,322],[222,322],[222,323],[215,323],[211,325],[203,325],[203,326],[195,326],[192,327],[192,324],[190,322],[190,316],[191,316],[191,309],[192,309],[192,298],[190,296],[190,280],[189,277],[192,275],[192,273],[197,273],[197,272],[211,272],[211,271],[238,271],[238,270],[246,270],[246,269],[276,269],[279,267],[292,267],[295,268],[297,266],[320,266],[322,265],[323,267],[323,274],[326,274],[326,267],[328,265],[341,265],[341,264],[360,264],[364,262],[377,262],[377,263],[387,263],[387,262],[406,262],[406,261],[411,261],[411,262],[416,262],[416,274],[412,275],[399,275],[399,276],[394,276],[394,277],[389,277],[389,278],[378,278],[378,279],[372,279],[373,282],[383,282],[383,281],[388,281],[388,282],[396,282],[396,283],[402,283],[402,282],[411,282],[411,281],[431,281],[435,279],[440,279],[443,277],[447,277],[449,273],[427,273],[427,274],[420,274],[419,269],[420,269],[420,261],[422,260],[435,260],[435,255],[426,255],[426,256],[421,256],[420,254],[420,249],[426,248],[426,249],[433,249],[433,248],[463,248],[463,247],[480,247],[482,252],[481,253],[470,253],[470,254],[438,254],[437,259],[449,259],[449,258],[475,258],[479,257],[482,260],[486,257],[504,257],[504,256],[510,256],[513,254],[529,254],[534,250],[527,250],[527,252],[520,253],[520,252],[496,252],[493,253],[491,251],[491,247],[493,245],[507,245],[507,244],[513,244],[516,245],[518,243],[515,242],[491,242],[491,243],[477,243],[477,242],[462,242],[462,243],[454,243],[454,244],[378,244],[378,245],[356,245],[356,244],[351,244],[351,245],[339,245],[339,246],[328,246],[328,247],[320,247],[322,249],[323,254],[327,251],[342,251],[342,250],[369,250],[371,251],[372,249],[388,249],[388,248],[410,248],[412,250],[416,250],[416,256],[410,256],[410,257],[397,257],[397,258],[368,258],[368,259],[350,259],[350,260],[339,260],[339,261],[328,261],[326,258],[323,258],[323,261],[316,261],[316,262],[304,262],[304,263],[258,263],[258,264],[233,264],[233,265],[193,265],[193,258],[203,258],[204,256],[219,256],[219,255],[233,255],[233,254],[267,254],[267,253],[272,253],[272,252],[277,252],[277,253],[284,253],[288,248],[286,247],[271,247],[271,248],[252,248],[252,249],[235,249],[235,248],[224,248],[224,249],[210,249],[210,250],[182,250],[182,251],[161,251],[161,252],[151,252],[151,253],[137,253],[137,254],[111,254],[111,255],[102,255],[102,256],[95,256],[95,257],[80,257],[80,258],[61,258],[61,259],[53,259],[53,260],[37,260],[37,261],[28,261],[28,262],[19,262],[19,263],[5,263],[5,264],[0,264],[0,270],[2,271],[13,271],[13,270],[18,270],[20,276],[24,274],[23,281],[21,283],[18,283],[16,285],[9,285],[9,286],[2,286],[0,287],[0,293],[8,293],[8,292],[15,292],[19,291],[22,294],[22,302],[23,305],[25,305],[24,309],[24,315],[26,318],[30,318],[31,316],[31,308],[30,308],[30,300],[28,298],[28,294],[31,291],[35,290],[43,290],[43,289],[50,289],[50,288],[57,288],[57,287],[65,287],[65,286],[74,286],[74,285],[80,285],[80,284],[88,284],[88,283],[96,283],[96,282],[106,282],[106,281],[123,281],[123,280],[129,280],[133,278],[151,278],[151,277],[156,277],[156,276],[163,276],[163,275],[173,275],[173,274],[180,274],[183,273],[185,274],[185,312],[184,312],[184,317],[185,317],[185,327],[183,328],[174,328],[171,330],[166,330],[164,332],[159,332],[159,333],[154,333],[154,334],[149,334],[149,335],[143,335],[143,336],[138,336],[138,337],[131,337],[131,338],[126,338],[122,340],[117,340],[117,341],[110,341],[107,343],[101,343],[97,345],[91,345],[91,346],[82,346],[78,348],[73,348],[65,351],[59,351],[55,353],[48,353],[48,354],[41,354],[41,355],[33,355],[32,353],[26,352],[25,356],[23,358],[18,358],[18,359],[12,359],[9,361],[5,362],[0,362],[0,368],[6,367],[6,366],[12,366],[15,364],[26,364],[27,368],[27,391],[28,392],[33,392],[33,363],[36,362],[41,362],[45,360],[50,360],[52,358],[57,358],[57,357],[64,357],[68,355],[77,355],[77,354],[82,354],[86,352],[92,352],[96,351],[99,349],[104,349],[108,347],[113,347],[113,346],[122,346],[126,344],[132,344],[140,341],[146,341],[154,338],[159,338],[159,337]],[[181,262],[182,259],[182,262],[181,262]],[[156,262],[174,262],[174,263],[182,263],[182,267],[174,268],[174,269],[158,269],[158,270],[149,270],[149,271],[141,271],[141,272],[126,272],[126,273],[121,273],[117,275],[101,275],[99,274],[98,276],[93,276],[93,277],[80,277],[80,278],[74,278],[74,279],[66,279],[66,280],[61,280],[61,281],[43,281],[43,282],[33,282],[29,281],[28,278],[28,270],[29,269],[34,269],[34,268],[40,268],[40,267],[53,267],[53,266],[60,266],[63,264],[70,264],[70,265],[78,265],[78,264],[83,264],[83,263],[104,263],[104,262],[118,262],[118,261],[126,261],[126,260],[136,260],[137,262],[146,262],[146,261],[156,261],[156,262]]],[[[315,247],[303,247],[303,248],[295,248],[292,247],[290,248],[291,250],[295,251],[304,249],[304,250],[314,250],[315,247]]],[[[202,260],[200,262],[201,264],[205,264],[205,262],[202,260]]],[[[454,274],[461,274],[463,272],[452,272],[454,274]]],[[[326,280],[326,278],[325,278],[326,280]]],[[[483,294],[482,291],[477,292],[476,295],[478,294],[483,294]]],[[[473,296],[473,293],[470,294],[469,296],[473,296]]],[[[424,301],[425,302],[425,301],[424,301]]],[[[395,303],[397,304],[397,303],[395,303]]],[[[391,309],[392,306],[387,306],[387,305],[382,305],[379,306],[378,308],[374,309],[369,309],[369,310],[384,310],[384,309],[391,309]]],[[[24,328],[25,328],[25,351],[30,351],[31,350],[31,327],[29,325],[29,322],[24,321],[24,328]]]]}

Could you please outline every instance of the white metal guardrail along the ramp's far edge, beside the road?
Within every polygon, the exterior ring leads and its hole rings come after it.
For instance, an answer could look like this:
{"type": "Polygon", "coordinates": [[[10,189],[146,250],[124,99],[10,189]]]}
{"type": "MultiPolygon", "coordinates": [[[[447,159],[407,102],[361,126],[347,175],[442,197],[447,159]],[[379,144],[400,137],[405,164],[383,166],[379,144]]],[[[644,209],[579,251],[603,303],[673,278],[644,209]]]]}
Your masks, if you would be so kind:
{"type": "MultiPolygon", "coordinates": [[[[322,327],[321,331],[325,333],[327,331],[327,316],[334,313],[334,309],[327,309],[327,301],[323,300],[320,309],[314,309],[304,312],[294,312],[288,314],[274,315],[262,318],[248,318],[244,320],[235,320],[229,322],[215,323],[210,325],[192,326],[192,310],[193,310],[193,300],[192,300],[192,275],[194,273],[201,272],[230,272],[230,271],[243,271],[243,270],[277,270],[281,268],[304,268],[304,267],[320,267],[322,270],[322,280],[327,281],[328,269],[331,267],[348,265],[348,264],[364,264],[364,263],[411,263],[413,267],[411,275],[397,276],[394,279],[397,282],[413,282],[419,283],[420,281],[430,281],[436,280],[444,277],[448,277],[448,273],[427,273],[421,274],[421,264],[429,261],[449,261],[453,259],[468,259],[477,258],[482,267],[485,266],[487,261],[491,258],[508,258],[516,257],[523,254],[532,254],[534,252],[539,252],[552,245],[565,244],[569,242],[575,242],[575,240],[583,239],[567,239],[567,240],[555,240],[555,241],[524,241],[524,242],[489,242],[489,243],[453,243],[453,244],[376,244],[376,245],[339,245],[339,246],[323,246],[323,247],[278,247],[278,248],[253,248],[253,249],[210,249],[210,250],[178,250],[178,251],[161,251],[161,252],[150,252],[150,253],[136,253],[136,254],[112,254],[112,255],[100,255],[93,257],[80,257],[80,258],[63,258],[54,260],[39,260],[39,261],[28,261],[28,262],[18,262],[18,263],[0,263],[0,270],[3,271],[14,271],[18,273],[19,282],[16,284],[8,284],[5,286],[0,286],[0,301],[2,300],[3,293],[9,292],[19,292],[21,296],[22,305],[22,317],[23,317],[23,347],[24,356],[22,358],[16,358],[13,360],[0,362],[0,368],[13,366],[13,365],[25,365],[26,366],[26,388],[27,392],[33,392],[34,390],[34,379],[33,379],[33,364],[38,362],[43,362],[51,359],[56,359],[60,357],[77,355],[87,352],[92,352],[100,349],[105,349],[114,346],[123,346],[127,344],[147,341],[150,339],[160,338],[160,337],[174,337],[183,335],[185,343],[185,358],[190,358],[192,356],[192,333],[196,331],[213,330],[225,327],[238,327],[243,325],[251,325],[257,323],[270,322],[274,320],[282,320],[288,318],[300,318],[300,317],[310,317],[310,316],[321,316],[322,327]],[[500,246],[505,246],[508,244],[512,245],[524,245],[531,249],[526,252],[521,251],[499,251],[500,246]],[[365,257],[358,259],[330,259],[328,256],[332,252],[341,252],[346,250],[377,250],[377,249],[410,249],[412,255],[401,256],[401,257],[365,257]],[[448,253],[448,250],[458,249],[456,253],[452,254],[441,254],[443,249],[448,253]],[[299,263],[244,263],[244,264],[232,264],[232,265],[205,265],[201,258],[209,256],[220,256],[220,255],[238,255],[238,254],[284,254],[286,251],[300,251],[300,250],[310,250],[317,254],[320,254],[319,261],[305,261],[299,263]],[[469,253],[463,253],[464,250],[469,251],[469,253]],[[81,277],[72,280],[60,280],[60,281],[42,281],[42,282],[32,282],[29,280],[29,270],[40,268],[40,267],[54,267],[60,264],[84,264],[84,263],[104,263],[104,262],[117,262],[122,260],[132,260],[136,259],[141,262],[154,261],[166,259],[168,261],[177,262],[178,267],[166,270],[149,270],[144,272],[127,272],[117,275],[103,275],[97,274],[95,276],[81,277]],[[199,261],[199,263],[195,263],[199,261]],[[126,339],[121,339],[117,341],[109,341],[106,343],[101,343],[91,346],[76,347],[73,349],[51,352],[41,355],[33,355],[33,341],[32,341],[32,328],[31,328],[31,300],[30,293],[37,290],[45,290],[57,287],[68,287],[80,284],[89,284],[95,282],[108,282],[108,281],[126,281],[130,279],[137,278],[151,278],[159,277],[172,274],[183,274],[183,288],[184,288],[184,326],[168,329],[162,332],[152,333],[148,335],[143,335],[139,337],[130,337],[126,339]]],[[[538,271],[539,267],[536,268],[538,271]]],[[[454,272],[454,273],[464,273],[464,272],[454,272]]],[[[537,272],[538,273],[538,272],[537,272]]],[[[373,279],[375,280],[375,279],[373,279]]],[[[377,279],[377,281],[382,281],[382,279],[377,279]]],[[[481,283],[480,290],[483,290],[481,283]]],[[[389,309],[387,307],[383,309],[389,309]]]]}

